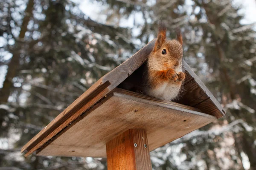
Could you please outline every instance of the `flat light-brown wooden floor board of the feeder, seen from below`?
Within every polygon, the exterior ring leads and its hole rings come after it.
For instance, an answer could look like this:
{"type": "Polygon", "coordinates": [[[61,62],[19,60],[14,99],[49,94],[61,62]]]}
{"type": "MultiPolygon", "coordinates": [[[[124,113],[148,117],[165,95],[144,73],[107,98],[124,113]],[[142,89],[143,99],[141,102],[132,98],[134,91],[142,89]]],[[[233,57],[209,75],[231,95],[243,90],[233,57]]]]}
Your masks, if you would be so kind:
{"type": "Polygon", "coordinates": [[[105,144],[131,128],[147,131],[151,151],[216,119],[190,106],[122,89],[97,105],[37,155],[106,157],[105,144]]]}

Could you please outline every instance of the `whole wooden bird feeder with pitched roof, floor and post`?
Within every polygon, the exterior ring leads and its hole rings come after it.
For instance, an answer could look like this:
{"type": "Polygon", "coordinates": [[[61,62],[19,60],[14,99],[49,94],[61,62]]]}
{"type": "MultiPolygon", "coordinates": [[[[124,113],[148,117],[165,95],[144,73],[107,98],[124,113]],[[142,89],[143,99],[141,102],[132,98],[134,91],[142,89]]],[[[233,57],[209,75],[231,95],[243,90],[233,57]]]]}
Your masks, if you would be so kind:
{"type": "Polygon", "coordinates": [[[100,78],[21,152],[107,157],[108,170],[150,170],[151,150],[224,116],[221,105],[186,63],[178,102],[116,88],[147,60],[154,43],[100,78]]]}

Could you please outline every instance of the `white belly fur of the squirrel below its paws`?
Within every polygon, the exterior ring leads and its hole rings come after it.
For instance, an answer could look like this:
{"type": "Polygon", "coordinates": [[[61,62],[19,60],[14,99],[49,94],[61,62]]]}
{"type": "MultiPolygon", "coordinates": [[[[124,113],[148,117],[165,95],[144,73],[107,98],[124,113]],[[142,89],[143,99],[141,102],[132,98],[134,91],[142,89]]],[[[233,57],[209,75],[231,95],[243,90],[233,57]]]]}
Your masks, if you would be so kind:
{"type": "Polygon", "coordinates": [[[179,84],[166,82],[158,86],[157,88],[149,89],[148,93],[149,95],[160,99],[172,100],[177,97],[180,86],[181,85],[179,84]]]}

